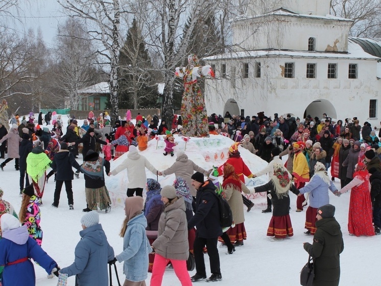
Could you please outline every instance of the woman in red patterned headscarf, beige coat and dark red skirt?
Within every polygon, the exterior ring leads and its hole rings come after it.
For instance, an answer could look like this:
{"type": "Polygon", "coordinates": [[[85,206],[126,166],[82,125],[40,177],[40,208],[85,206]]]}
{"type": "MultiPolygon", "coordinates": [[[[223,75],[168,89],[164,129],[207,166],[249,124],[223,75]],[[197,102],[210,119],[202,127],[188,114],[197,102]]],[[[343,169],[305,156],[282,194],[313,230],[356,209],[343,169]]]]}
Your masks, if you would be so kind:
{"type": "MultiPolygon", "coordinates": [[[[223,172],[224,180],[222,182],[222,188],[224,198],[230,206],[234,223],[234,227],[229,228],[226,233],[234,246],[242,246],[244,245],[244,240],[246,240],[246,229],[244,225],[245,215],[241,193],[250,194],[250,190],[240,180],[232,165],[225,163],[223,172]]],[[[228,253],[230,253],[229,248],[228,253]]]]}

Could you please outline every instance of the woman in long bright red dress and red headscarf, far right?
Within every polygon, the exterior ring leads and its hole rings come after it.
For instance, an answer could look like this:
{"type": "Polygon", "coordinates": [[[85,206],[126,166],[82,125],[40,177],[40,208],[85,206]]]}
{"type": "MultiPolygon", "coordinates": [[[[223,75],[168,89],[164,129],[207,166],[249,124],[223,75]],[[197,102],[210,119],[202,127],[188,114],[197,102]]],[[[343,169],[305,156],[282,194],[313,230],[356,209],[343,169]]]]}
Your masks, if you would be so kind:
{"type": "Polygon", "coordinates": [[[349,189],[351,189],[348,214],[349,234],[355,236],[374,235],[369,173],[363,162],[356,165],[353,180],[343,187],[340,193],[345,193],[349,189]]]}

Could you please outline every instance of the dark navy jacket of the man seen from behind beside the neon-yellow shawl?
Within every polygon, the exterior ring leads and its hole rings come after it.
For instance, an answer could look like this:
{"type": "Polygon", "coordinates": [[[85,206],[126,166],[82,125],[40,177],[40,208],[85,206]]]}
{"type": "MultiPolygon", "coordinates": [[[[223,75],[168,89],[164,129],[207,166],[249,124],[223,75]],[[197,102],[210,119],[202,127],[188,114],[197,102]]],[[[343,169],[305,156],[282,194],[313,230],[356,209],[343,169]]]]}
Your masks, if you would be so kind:
{"type": "Polygon", "coordinates": [[[70,181],[74,179],[74,172],[72,167],[77,170],[80,165],[77,163],[74,155],[69,150],[60,150],[56,153],[51,165],[54,172],[56,172],[57,181],[70,181]]]}

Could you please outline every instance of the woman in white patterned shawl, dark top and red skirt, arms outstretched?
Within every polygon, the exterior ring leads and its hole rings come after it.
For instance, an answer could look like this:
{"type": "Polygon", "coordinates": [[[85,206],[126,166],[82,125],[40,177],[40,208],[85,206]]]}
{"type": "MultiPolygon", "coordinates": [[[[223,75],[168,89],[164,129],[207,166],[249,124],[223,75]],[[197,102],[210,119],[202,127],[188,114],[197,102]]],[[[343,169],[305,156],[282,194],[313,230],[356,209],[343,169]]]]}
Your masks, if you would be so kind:
{"type": "Polygon", "coordinates": [[[274,176],[269,183],[255,187],[254,192],[270,191],[269,196],[273,205],[273,216],[271,217],[267,236],[275,236],[283,239],[293,236],[294,231],[290,219],[290,197],[289,191],[298,195],[298,189],[292,184],[288,171],[282,164],[274,163],[274,176]]]}

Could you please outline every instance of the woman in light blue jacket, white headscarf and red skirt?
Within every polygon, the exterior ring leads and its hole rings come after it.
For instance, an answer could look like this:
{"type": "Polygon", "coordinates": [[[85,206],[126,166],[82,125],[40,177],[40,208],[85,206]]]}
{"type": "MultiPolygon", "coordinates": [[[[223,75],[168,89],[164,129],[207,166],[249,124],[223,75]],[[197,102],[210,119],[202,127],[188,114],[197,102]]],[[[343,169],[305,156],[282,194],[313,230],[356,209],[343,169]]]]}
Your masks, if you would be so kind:
{"type": "Polygon", "coordinates": [[[329,180],[327,171],[323,163],[317,162],[314,167],[314,175],[309,181],[308,185],[299,189],[300,194],[311,192],[309,195],[309,206],[305,212],[305,225],[304,228],[307,229],[305,234],[315,234],[316,226],[316,212],[318,208],[329,204],[328,189],[337,196],[340,196],[340,192],[337,190],[334,183],[329,180]]]}

